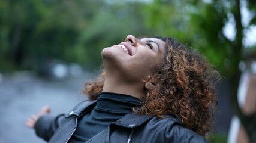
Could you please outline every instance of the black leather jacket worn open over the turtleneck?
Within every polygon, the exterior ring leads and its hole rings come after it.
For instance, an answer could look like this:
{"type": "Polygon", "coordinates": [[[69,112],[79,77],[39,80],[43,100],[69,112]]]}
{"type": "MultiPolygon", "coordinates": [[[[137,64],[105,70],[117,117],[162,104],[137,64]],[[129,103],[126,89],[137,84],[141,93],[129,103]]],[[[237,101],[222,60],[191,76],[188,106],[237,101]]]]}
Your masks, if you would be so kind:
{"type": "MultiPolygon", "coordinates": [[[[68,142],[76,131],[79,118],[91,111],[97,101],[82,102],[67,114],[57,117],[42,116],[35,125],[38,136],[49,142],[68,142]]],[[[166,118],[129,113],[110,123],[88,142],[207,142],[203,136],[185,128],[175,115],[166,118]]]]}

